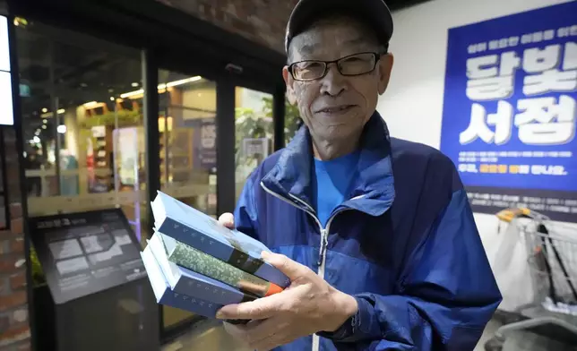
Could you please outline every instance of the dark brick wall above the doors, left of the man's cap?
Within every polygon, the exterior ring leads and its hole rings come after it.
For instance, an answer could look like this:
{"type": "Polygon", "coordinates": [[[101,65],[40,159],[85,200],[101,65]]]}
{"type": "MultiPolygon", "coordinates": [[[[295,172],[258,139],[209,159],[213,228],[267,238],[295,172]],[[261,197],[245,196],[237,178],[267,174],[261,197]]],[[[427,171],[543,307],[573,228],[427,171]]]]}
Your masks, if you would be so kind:
{"type": "Polygon", "coordinates": [[[285,27],[297,0],[157,0],[284,53],[285,27]]]}

